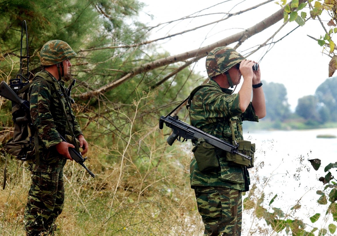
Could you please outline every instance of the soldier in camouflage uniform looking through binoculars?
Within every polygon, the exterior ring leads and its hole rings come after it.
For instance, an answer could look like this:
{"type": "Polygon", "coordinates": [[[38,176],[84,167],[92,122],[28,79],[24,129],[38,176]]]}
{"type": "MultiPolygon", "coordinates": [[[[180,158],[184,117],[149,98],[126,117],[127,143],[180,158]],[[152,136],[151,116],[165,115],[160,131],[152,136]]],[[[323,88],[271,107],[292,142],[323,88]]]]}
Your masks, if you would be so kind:
{"type": "MultiPolygon", "coordinates": [[[[266,115],[260,69],[253,71],[254,63],[233,48],[214,48],[206,58],[210,86],[201,87],[193,96],[191,125],[230,144],[233,141],[231,130],[236,140],[243,140],[242,121],[257,122],[266,115]],[[238,85],[241,76],[244,81],[240,91],[233,93],[228,88],[238,85]]],[[[242,222],[241,194],[249,190],[250,184],[248,170],[226,161],[224,153],[217,154],[219,167],[206,172],[201,172],[192,158],[191,188],[205,224],[204,235],[238,236],[242,222]]]]}

